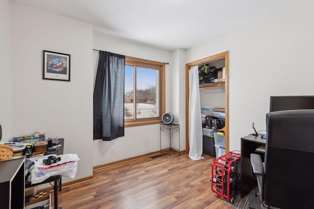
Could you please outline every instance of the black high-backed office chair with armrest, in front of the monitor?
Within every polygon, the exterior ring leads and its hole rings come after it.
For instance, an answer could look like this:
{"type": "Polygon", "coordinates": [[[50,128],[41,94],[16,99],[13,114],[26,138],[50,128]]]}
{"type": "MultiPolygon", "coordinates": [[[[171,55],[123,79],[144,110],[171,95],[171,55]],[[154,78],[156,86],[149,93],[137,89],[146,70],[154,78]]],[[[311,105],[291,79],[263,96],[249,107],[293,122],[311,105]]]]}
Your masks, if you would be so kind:
{"type": "Polygon", "coordinates": [[[314,110],[266,114],[264,164],[251,154],[264,204],[281,209],[314,208],[314,110]]]}

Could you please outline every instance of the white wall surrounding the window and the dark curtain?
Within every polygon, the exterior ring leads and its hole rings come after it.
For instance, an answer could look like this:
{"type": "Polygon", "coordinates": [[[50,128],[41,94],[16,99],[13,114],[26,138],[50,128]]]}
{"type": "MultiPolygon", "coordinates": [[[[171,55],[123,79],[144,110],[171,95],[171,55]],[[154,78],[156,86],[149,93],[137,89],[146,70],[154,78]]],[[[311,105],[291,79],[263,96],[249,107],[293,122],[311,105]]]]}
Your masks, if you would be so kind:
{"type": "MultiPolygon", "coordinates": [[[[130,57],[153,60],[157,62],[169,62],[170,52],[150,46],[140,45],[131,41],[115,38],[94,31],[93,48],[110,51],[130,57]]],[[[99,52],[93,52],[94,80],[96,77],[99,52]]],[[[166,65],[166,111],[171,111],[170,102],[170,70],[171,63],[166,65]]],[[[95,82],[95,81],[94,81],[95,82]]],[[[160,149],[159,124],[136,126],[125,128],[125,136],[112,141],[94,140],[93,165],[111,163],[160,149]],[[110,147],[115,147],[115,153],[110,153],[110,147]]]]}

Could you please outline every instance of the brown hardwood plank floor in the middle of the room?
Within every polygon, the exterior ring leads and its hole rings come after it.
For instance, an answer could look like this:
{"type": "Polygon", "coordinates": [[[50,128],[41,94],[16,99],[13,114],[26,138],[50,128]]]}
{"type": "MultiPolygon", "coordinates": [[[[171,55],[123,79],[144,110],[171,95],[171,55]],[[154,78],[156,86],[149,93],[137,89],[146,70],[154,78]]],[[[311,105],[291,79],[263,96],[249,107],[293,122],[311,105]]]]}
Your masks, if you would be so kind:
{"type": "Polygon", "coordinates": [[[97,169],[93,180],[62,188],[58,203],[63,209],[231,209],[211,191],[214,158],[204,157],[145,157],[97,169]]]}

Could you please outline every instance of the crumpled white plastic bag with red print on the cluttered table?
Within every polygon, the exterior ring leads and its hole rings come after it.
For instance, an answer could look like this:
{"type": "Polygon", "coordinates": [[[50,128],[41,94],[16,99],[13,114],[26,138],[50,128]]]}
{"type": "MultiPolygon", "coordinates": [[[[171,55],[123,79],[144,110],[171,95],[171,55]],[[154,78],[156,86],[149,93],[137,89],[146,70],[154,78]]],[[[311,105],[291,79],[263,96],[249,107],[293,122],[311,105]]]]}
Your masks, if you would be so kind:
{"type": "Polygon", "coordinates": [[[31,184],[37,184],[45,181],[51,176],[61,175],[74,179],[78,169],[78,155],[77,154],[64,154],[58,155],[61,160],[51,165],[46,165],[43,161],[45,158],[38,159],[29,168],[29,176],[27,181],[31,184]]]}

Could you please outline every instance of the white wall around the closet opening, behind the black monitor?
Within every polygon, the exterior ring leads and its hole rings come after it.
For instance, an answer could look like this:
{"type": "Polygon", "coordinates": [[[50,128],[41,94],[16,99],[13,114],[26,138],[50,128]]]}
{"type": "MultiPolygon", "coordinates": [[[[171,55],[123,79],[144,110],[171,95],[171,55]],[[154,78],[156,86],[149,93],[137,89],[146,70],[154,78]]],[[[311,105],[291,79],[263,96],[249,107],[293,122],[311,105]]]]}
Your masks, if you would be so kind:
{"type": "Polygon", "coordinates": [[[229,51],[230,150],[265,130],[270,95],[314,95],[314,1],[302,0],[187,50],[187,62],[229,51]]]}

